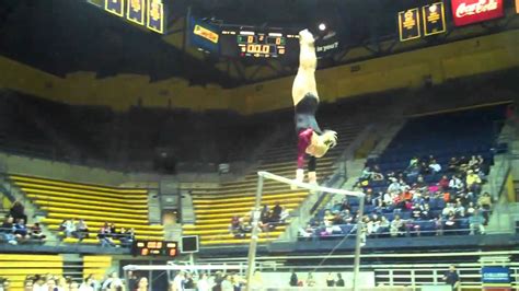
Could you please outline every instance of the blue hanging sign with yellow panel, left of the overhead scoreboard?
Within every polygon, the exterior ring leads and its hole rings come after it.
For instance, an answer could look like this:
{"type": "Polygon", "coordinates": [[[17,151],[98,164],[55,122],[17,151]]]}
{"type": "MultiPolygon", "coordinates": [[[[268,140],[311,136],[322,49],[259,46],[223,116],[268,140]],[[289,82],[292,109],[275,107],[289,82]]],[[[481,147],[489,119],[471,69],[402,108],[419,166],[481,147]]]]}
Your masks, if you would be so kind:
{"type": "Polygon", "coordinates": [[[218,54],[220,28],[191,16],[188,40],[192,46],[218,54]]]}

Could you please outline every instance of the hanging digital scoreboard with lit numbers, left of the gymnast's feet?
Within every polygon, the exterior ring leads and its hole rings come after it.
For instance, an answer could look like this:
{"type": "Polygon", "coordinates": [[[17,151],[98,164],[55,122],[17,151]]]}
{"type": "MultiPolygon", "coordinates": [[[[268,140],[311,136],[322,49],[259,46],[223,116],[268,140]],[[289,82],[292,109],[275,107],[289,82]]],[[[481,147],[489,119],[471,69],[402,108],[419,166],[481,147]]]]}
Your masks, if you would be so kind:
{"type": "Polygon", "coordinates": [[[279,58],[299,48],[298,35],[279,32],[222,30],[220,36],[221,54],[227,57],[279,58]]]}

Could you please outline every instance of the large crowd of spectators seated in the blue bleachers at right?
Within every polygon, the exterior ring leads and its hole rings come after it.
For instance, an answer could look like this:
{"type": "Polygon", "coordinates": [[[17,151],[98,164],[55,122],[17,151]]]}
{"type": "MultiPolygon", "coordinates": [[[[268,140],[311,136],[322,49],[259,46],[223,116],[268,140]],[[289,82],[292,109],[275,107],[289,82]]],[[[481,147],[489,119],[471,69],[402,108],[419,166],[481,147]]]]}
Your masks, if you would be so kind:
{"type": "Polygon", "coordinates": [[[366,193],[365,214],[358,217],[357,198],[344,198],[300,229],[300,236],[345,235],[359,219],[364,236],[372,237],[484,234],[492,208],[491,195],[481,193],[487,168],[482,155],[443,165],[432,155],[413,158],[401,172],[366,166],[356,185],[366,193]]]}

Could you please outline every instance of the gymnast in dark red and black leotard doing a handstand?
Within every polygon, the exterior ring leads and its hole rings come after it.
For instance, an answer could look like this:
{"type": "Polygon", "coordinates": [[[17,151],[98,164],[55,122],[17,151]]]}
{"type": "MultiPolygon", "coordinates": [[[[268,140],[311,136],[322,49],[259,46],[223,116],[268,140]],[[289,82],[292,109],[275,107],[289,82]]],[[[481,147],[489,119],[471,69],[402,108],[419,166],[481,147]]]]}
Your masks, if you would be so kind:
{"type": "MultiPolygon", "coordinates": [[[[333,130],[321,130],[315,112],[319,106],[319,95],[315,84],[314,37],[308,30],[299,33],[299,69],[293,80],[292,100],[295,106],[296,132],[298,133],[298,168],[296,181],[304,179],[304,158],[308,160],[308,182],[318,184],[316,158],[323,156],[330,148],[337,143],[337,133],[333,130]]],[[[292,187],[293,188],[293,187],[292,187]]]]}

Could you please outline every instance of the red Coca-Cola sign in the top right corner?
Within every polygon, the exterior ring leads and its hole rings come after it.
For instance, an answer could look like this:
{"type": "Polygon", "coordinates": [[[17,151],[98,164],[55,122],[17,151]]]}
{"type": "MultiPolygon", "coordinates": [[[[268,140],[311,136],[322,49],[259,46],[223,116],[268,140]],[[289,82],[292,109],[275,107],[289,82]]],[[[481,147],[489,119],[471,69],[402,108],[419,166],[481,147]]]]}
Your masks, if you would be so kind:
{"type": "Polygon", "coordinates": [[[451,0],[455,26],[501,18],[503,0],[451,0]]]}

